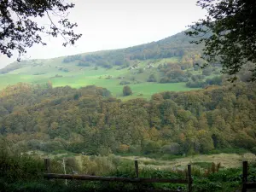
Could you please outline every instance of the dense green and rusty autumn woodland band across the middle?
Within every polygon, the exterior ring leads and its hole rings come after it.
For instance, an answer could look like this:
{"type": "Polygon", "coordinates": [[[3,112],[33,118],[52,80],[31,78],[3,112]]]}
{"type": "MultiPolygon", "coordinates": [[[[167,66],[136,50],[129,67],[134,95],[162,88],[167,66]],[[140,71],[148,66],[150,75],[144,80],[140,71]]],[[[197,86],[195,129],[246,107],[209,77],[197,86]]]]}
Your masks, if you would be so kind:
{"type": "Polygon", "coordinates": [[[0,92],[0,133],[14,149],[84,154],[256,153],[255,84],[163,92],[122,102],[104,88],[16,84],[0,92]]]}

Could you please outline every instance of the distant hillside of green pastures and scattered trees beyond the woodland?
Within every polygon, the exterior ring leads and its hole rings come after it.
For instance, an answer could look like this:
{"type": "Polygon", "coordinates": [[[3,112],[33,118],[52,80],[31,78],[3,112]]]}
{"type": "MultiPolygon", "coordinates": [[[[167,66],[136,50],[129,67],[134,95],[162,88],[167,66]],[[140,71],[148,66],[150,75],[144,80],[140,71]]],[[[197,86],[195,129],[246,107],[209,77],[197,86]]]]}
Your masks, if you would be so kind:
{"type": "MultiPolygon", "coordinates": [[[[74,88],[96,84],[121,97],[124,84],[129,84],[133,97],[150,96],[165,90],[200,89],[219,74],[219,67],[204,71],[196,64],[201,60],[201,46],[189,44],[191,38],[183,32],[150,44],[126,49],[68,55],[48,60],[14,62],[0,70],[0,89],[9,84],[28,82],[54,87],[74,88]],[[8,80],[6,80],[8,79],[8,80]]],[[[215,82],[215,83],[214,83],[215,82]]]]}

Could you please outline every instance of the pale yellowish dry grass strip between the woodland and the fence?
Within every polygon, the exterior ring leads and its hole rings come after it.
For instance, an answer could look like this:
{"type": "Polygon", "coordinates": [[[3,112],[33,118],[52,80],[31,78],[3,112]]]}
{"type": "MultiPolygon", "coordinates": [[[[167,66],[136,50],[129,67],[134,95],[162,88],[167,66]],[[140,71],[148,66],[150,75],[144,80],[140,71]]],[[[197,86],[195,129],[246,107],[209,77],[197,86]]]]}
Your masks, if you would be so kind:
{"type": "MultiPolygon", "coordinates": [[[[28,152],[28,154],[38,154],[41,157],[48,157],[51,159],[54,158],[67,158],[67,157],[75,157],[78,160],[78,163],[81,164],[81,158],[84,155],[81,154],[73,154],[69,152],[63,152],[59,154],[44,154],[42,151],[33,151],[28,152]]],[[[249,163],[256,162],[256,155],[251,153],[245,154],[196,154],[196,155],[189,155],[187,157],[177,157],[173,158],[172,160],[161,160],[161,159],[154,159],[148,158],[145,156],[132,156],[132,155],[114,155],[111,154],[115,158],[119,160],[129,160],[134,161],[138,160],[139,165],[143,167],[153,168],[153,169],[160,169],[160,170],[169,170],[172,168],[178,169],[185,169],[187,165],[191,164],[191,166],[206,168],[213,163],[221,164],[222,168],[236,168],[242,166],[242,161],[247,160],[249,163]]]]}

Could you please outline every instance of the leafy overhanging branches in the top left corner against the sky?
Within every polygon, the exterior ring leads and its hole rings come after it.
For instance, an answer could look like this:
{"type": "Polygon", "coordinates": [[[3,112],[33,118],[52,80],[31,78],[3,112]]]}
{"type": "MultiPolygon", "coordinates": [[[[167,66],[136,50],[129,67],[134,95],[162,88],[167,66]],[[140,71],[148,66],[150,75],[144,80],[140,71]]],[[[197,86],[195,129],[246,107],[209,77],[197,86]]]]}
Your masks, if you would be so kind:
{"type": "Polygon", "coordinates": [[[61,35],[67,44],[74,44],[81,34],[73,32],[77,23],[67,19],[67,10],[73,3],[62,0],[3,0],[0,2],[0,51],[11,57],[14,50],[20,55],[33,44],[45,45],[42,35],[56,38],[61,35]],[[39,25],[36,18],[48,18],[49,25],[39,25]],[[57,18],[55,23],[53,18],[57,18]]]}

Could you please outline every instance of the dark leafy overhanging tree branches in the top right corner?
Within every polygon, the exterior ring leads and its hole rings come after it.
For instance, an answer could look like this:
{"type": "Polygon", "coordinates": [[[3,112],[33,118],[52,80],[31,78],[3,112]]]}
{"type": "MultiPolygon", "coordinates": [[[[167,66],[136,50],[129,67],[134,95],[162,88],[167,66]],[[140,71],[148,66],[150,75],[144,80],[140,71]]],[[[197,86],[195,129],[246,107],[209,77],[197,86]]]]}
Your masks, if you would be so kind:
{"type": "Polygon", "coordinates": [[[256,1],[199,0],[197,5],[207,10],[207,17],[186,32],[197,37],[192,43],[204,43],[204,58],[222,63],[223,72],[233,75],[233,80],[243,67],[252,72],[255,80],[256,1]]]}

